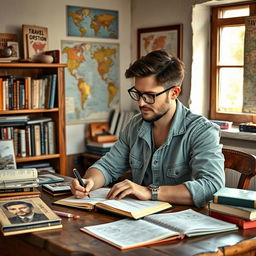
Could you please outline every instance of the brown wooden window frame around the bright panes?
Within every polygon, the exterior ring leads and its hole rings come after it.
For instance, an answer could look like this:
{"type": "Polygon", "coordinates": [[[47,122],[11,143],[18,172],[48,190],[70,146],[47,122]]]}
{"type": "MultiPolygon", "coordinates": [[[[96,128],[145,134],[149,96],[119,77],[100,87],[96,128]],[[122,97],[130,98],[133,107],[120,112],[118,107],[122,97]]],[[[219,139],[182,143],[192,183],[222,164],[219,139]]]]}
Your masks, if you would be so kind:
{"type": "Polygon", "coordinates": [[[247,113],[228,113],[217,110],[218,101],[218,73],[222,67],[242,67],[244,65],[220,65],[218,64],[219,59],[219,31],[221,26],[232,26],[232,25],[244,25],[245,17],[232,17],[232,18],[219,18],[219,11],[225,9],[237,9],[243,6],[249,6],[250,15],[256,14],[256,3],[254,2],[243,2],[237,4],[229,4],[222,6],[215,6],[212,8],[212,20],[211,20],[211,81],[210,81],[210,119],[213,120],[226,120],[233,121],[234,124],[241,122],[256,122],[256,114],[247,113]]]}

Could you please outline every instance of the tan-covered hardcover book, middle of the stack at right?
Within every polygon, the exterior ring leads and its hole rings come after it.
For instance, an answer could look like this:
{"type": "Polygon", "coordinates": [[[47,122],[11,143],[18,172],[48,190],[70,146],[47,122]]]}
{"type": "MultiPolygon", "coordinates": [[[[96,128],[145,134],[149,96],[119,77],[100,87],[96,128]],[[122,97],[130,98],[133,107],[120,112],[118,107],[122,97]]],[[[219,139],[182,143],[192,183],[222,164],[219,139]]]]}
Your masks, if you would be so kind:
{"type": "Polygon", "coordinates": [[[256,220],[256,209],[254,208],[225,205],[225,204],[215,204],[211,202],[209,204],[209,209],[211,211],[233,215],[246,220],[256,220]]]}

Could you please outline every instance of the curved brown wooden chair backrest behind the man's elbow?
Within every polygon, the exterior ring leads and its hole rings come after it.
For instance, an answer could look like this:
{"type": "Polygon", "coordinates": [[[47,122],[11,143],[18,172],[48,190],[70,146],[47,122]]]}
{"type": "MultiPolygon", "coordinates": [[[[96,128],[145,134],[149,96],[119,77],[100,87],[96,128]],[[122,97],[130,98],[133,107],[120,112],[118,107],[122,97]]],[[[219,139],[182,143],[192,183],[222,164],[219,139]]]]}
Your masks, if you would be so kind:
{"type": "Polygon", "coordinates": [[[248,189],[251,178],[256,175],[256,157],[249,153],[227,148],[223,148],[222,153],[225,157],[225,169],[232,169],[241,174],[237,188],[248,189]]]}

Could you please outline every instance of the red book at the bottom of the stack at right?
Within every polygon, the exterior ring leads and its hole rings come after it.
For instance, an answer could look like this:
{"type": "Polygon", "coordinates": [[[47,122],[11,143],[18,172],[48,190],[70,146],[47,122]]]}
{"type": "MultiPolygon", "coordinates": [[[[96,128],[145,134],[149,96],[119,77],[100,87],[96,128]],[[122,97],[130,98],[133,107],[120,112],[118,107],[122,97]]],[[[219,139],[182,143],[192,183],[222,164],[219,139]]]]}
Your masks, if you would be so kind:
{"type": "Polygon", "coordinates": [[[236,224],[241,229],[256,228],[256,220],[245,220],[225,213],[210,211],[209,215],[213,218],[224,220],[236,224]]]}

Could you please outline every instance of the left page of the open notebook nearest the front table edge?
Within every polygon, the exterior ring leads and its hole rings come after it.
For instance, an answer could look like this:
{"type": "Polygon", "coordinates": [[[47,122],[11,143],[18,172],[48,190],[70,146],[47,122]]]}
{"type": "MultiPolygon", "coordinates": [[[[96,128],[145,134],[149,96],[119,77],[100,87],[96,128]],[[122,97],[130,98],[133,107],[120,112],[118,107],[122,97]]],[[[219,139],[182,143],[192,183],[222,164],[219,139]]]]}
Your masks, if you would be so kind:
{"type": "Polygon", "coordinates": [[[123,219],[111,223],[84,227],[82,231],[97,236],[120,248],[134,247],[145,242],[157,241],[171,235],[179,235],[170,230],[144,220],[123,219]],[[143,235],[141,232],[143,231],[143,235]]]}

